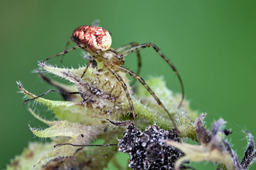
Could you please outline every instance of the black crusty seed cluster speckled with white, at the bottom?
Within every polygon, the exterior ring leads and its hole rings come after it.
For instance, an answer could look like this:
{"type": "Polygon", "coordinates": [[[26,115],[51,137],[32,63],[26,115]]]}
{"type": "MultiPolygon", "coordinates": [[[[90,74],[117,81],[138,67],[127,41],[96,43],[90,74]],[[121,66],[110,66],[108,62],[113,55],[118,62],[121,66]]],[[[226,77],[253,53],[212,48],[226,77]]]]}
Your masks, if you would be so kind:
{"type": "Polygon", "coordinates": [[[152,125],[143,132],[137,130],[137,138],[135,135],[131,124],[118,143],[120,152],[129,153],[132,169],[173,169],[175,161],[184,155],[164,143],[164,140],[179,141],[175,130],[168,132],[152,125]]]}

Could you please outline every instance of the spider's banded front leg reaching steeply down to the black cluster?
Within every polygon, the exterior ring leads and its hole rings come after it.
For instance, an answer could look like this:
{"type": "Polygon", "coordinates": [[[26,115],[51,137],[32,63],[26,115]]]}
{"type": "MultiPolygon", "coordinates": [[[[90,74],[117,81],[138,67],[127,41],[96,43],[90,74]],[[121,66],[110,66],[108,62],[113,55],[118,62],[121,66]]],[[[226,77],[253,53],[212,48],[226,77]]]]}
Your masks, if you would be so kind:
{"type": "MultiPolygon", "coordinates": [[[[132,103],[132,99],[131,99],[131,96],[127,90],[127,86],[124,82],[124,80],[122,79],[121,76],[119,76],[112,68],[108,68],[109,71],[111,71],[111,73],[114,74],[114,76],[116,77],[116,79],[121,83],[123,89],[124,89],[124,92],[127,96],[127,99],[128,99],[128,102],[129,102],[129,105],[130,105],[130,108],[131,108],[131,111],[132,111],[132,117],[134,119],[134,127],[135,127],[135,132],[137,133],[137,122],[136,122],[136,117],[135,117],[135,111],[134,111],[134,106],[133,106],[133,103],[132,103]]],[[[136,134],[137,136],[137,134],[136,134]]]]}

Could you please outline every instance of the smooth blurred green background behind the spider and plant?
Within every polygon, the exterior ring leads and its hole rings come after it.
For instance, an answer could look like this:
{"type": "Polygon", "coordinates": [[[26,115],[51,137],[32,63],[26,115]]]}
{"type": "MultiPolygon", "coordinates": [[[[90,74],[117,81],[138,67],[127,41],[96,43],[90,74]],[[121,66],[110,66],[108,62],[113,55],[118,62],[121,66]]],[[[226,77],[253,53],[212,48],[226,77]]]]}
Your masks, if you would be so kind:
{"type": "MultiPolygon", "coordinates": [[[[255,1],[1,1],[1,159],[3,169],[34,138],[32,127],[45,127],[22,105],[15,81],[35,94],[50,89],[32,73],[37,61],[63,50],[79,25],[100,25],[112,34],[113,47],[138,41],[155,43],[182,76],[191,107],[207,112],[207,127],[222,117],[234,134],[228,140],[241,160],[247,141],[256,136],[256,3],[255,1]]],[[[83,65],[82,50],[65,56],[64,66],[83,65]]],[[[152,49],[141,51],[141,76],[163,75],[180,92],[170,67],[152,49]]],[[[61,66],[60,59],[49,62],[61,66]]],[[[136,70],[136,57],[125,66],[136,70]]],[[[56,94],[47,96],[61,99],[56,94]]],[[[39,108],[39,106],[36,106],[39,108]]],[[[52,117],[46,108],[37,113],[52,117]]],[[[193,164],[198,169],[212,164],[193,164]]],[[[253,166],[256,169],[256,166],[253,166]]],[[[253,169],[252,167],[252,169],[253,169]]]]}

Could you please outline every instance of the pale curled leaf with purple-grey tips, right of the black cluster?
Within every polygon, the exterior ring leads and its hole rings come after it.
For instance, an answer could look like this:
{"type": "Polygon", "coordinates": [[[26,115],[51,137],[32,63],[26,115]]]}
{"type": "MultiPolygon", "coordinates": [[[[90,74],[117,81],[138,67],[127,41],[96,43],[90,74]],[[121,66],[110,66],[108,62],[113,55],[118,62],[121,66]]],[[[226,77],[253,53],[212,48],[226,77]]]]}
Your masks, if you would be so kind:
{"type": "Polygon", "coordinates": [[[231,149],[227,141],[224,139],[219,139],[218,134],[220,132],[220,127],[225,124],[225,121],[220,118],[218,121],[214,122],[210,133],[202,124],[202,119],[204,117],[205,115],[200,115],[198,118],[196,118],[195,121],[196,135],[200,145],[190,145],[187,143],[177,143],[175,141],[165,141],[169,145],[172,145],[185,153],[184,157],[181,157],[179,160],[177,160],[177,162],[175,162],[175,169],[179,169],[182,163],[186,160],[194,162],[218,162],[219,164],[225,166],[227,169],[242,169],[236,153],[231,149]]]}

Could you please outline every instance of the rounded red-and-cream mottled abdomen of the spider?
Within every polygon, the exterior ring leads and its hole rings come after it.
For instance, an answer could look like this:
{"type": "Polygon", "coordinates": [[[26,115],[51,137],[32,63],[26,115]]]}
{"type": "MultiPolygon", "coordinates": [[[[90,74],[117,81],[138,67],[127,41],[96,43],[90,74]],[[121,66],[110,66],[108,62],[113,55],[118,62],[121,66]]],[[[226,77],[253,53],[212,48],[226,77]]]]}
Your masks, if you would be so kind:
{"type": "Polygon", "coordinates": [[[112,43],[111,35],[106,29],[88,25],[77,27],[72,34],[72,40],[77,45],[86,45],[92,52],[104,52],[112,43]]]}

